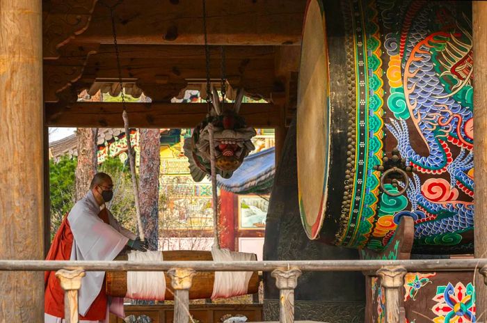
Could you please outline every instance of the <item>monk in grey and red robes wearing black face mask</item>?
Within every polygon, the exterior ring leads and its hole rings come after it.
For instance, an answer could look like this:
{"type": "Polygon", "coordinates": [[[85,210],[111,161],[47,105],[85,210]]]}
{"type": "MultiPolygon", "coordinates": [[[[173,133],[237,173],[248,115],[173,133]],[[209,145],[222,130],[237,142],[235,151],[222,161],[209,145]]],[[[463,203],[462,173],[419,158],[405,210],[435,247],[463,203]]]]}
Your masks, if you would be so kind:
{"type": "MultiPolygon", "coordinates": [[[[145,251],[147,244],[122,228],[105,203],[113,197],[113,182],[97,173],[90,191],[67,214],[54,237],[47,260],[113,260],[122,249],[145,251]]],[[[104,271],[87,271],[79,290],[79,320],[109,322],[109,313],[123,317],[123,299],[109,297],[104,271]]],[[[64,322],[64,291],[54,271],[45,273],[45,323],[64,322]]]]}

